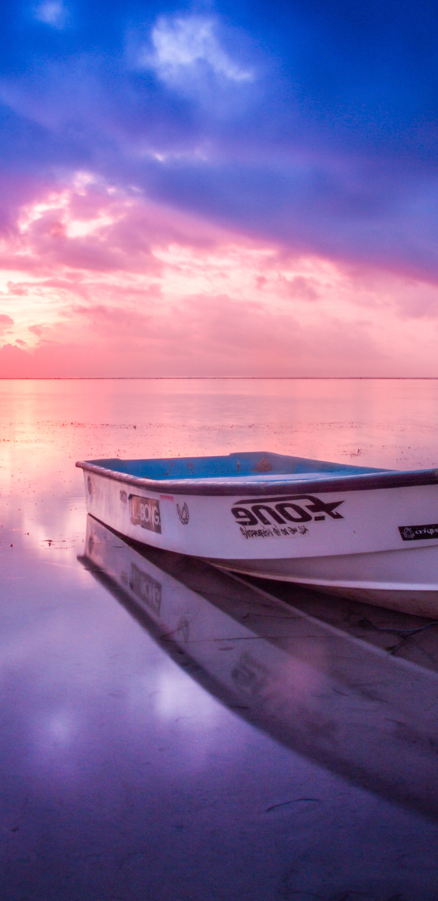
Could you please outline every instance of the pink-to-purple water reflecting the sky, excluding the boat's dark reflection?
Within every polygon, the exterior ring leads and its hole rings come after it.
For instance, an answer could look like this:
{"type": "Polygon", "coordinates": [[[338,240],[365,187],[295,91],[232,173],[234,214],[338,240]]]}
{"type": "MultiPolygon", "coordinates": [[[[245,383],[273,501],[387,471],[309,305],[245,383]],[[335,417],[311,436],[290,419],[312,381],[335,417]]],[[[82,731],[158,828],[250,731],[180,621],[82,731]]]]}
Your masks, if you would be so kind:
{"type": "MultiPolygon", "coordinates": [[[[257,711],[251,722],[178,664],[78,561],[86,514],[74,462],[256,448],[426,466],[436,463],[436,391],[1,384],[5,897],[432,901],[437,832],[421,805],[392,803],[278,742],[257,711]]],[[[295,690],[304,672],[308,692],[311,670],[291,659],[295,690]]],[[[337,703],[342,711],[342,695],[337,703]]],[[[389,753],[382,746],[382,760],[389,753]]]]}

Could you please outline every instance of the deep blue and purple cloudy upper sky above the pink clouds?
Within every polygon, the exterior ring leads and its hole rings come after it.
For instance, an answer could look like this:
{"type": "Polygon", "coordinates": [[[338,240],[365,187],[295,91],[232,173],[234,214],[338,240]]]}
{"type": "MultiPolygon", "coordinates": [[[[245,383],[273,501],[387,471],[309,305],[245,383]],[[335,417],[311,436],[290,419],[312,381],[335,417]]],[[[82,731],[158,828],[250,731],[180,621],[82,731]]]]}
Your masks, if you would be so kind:
{"type": "Polygon", "coordinates": [[[86,171],[284,253],[436,283],[436,5],[2,9],[6,238],[86,171]]]}

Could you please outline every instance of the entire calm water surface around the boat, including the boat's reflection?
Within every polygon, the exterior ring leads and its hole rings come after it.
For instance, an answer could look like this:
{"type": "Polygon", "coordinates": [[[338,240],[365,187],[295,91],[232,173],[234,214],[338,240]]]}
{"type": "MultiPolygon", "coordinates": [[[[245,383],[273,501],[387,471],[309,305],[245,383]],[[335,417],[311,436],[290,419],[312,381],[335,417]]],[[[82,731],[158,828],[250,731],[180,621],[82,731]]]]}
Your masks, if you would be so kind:
{"type": "Polygon", "coordinates": [[[0,411],[1,895],[436,901],[438,628],[141,553],[74,464],[436,466],[438,382],[1,381],[0,411]]]}

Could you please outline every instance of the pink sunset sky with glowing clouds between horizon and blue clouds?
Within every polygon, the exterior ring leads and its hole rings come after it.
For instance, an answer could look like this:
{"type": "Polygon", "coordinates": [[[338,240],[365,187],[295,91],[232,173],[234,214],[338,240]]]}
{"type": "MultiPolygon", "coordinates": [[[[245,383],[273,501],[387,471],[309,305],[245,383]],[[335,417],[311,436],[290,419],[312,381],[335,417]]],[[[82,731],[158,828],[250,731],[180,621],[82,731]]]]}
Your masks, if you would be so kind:
{"type": "Polygon", "coordinates": [[[0,376],[435,376],[438,287],[297,256],[91,173],[0,243],[0,376]]]}

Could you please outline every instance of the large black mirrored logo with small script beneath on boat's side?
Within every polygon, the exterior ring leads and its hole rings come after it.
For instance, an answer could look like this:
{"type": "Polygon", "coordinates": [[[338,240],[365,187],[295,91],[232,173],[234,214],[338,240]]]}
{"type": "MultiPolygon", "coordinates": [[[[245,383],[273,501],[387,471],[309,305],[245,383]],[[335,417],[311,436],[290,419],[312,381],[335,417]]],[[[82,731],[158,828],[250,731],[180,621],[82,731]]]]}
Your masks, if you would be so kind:
{"type": "Polygon", "coordinates": [[[263,500],[253,497],[237,501],[232,513],[245,538],[281,538],[283,535],[306,534],[308,529],[303,523],[321,522],[326,516],[343,519],[336,509],[341,504],[343,501],[325,503],[314,495],[266,497],[263,500]]]}

